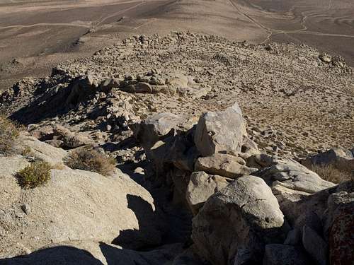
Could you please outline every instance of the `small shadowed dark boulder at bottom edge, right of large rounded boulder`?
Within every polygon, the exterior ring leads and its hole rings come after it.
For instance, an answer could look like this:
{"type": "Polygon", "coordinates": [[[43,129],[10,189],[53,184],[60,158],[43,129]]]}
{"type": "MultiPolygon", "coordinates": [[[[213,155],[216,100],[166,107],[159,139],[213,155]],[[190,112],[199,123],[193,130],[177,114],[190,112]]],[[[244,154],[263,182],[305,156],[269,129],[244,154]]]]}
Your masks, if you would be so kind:
{"type": "Polygon", "coordinates": [[[301,247],[281,244],[265,246],[263,265],[309,265],[312,261],[301,247]]]}

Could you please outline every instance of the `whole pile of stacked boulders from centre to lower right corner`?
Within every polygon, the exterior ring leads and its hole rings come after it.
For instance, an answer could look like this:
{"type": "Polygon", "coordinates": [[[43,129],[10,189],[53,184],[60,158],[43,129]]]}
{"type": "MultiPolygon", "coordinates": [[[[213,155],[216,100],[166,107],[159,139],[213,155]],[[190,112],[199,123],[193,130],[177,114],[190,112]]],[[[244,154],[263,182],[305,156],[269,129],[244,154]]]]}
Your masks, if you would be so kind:
{"type": "Polygon", "coordinates": [[[156,114],[131,128],[158,180],[193,213],[191,238],[202,259],[346,264],[338,260],[339,249],[353,244],[353,182],[336,186],[295,160],[259,153],[237,104],[194,125],[183,120],[156,114]]]}

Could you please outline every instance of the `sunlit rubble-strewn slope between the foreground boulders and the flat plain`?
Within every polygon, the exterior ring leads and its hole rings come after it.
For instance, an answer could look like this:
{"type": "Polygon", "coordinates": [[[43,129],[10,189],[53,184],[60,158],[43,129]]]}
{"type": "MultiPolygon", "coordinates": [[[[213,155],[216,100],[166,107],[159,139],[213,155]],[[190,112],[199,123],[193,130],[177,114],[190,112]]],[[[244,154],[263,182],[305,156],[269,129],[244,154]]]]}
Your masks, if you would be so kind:
{"type": "Polygon", "coordinates": [[[113,109],[125,104],[131,108],[127,112],[139,118],[156,112],[198,117],[205,110],[224,109],[237,100],[246,114],[252,139],[263,151],[304,158],[338,144],[351,147],[353,90],[353,69],[340,57],[331,58],[310,47],[248,45],[176,33],[123,40],[91,58],[58,66],[50,78],[21,81],[0,102],[4,112],[17,110],[18,116],[28,112],[26,123],[56,117],[58,112],[68,113],[65,122],[74,123],[93,112],[84,107],[72,110],[88,97],[96,109],[105,108],[105,113],[91,115],[114,115],[117,112],[113,109]],[[175,88],[169,90],[169,85],[166,89],[166,80],[174,82],[175,88]],[[64,87],[86,84],[91,89],[84,95],[74,88],[78,91],[70,98],[62,95],[35,113],[36,105],[47,100],[41,98],[43,92],[47,91],[48,97],[64,87]],[[178,86],[188,90],[176,93],[178,86]],[[110,88],[114,88],[112,92],[110,88]],[[132,93],[135,91],[148,93],[132,93]],[[32,101],[33,110],[20,110],[26,105],[23,100],[32,101]]]}

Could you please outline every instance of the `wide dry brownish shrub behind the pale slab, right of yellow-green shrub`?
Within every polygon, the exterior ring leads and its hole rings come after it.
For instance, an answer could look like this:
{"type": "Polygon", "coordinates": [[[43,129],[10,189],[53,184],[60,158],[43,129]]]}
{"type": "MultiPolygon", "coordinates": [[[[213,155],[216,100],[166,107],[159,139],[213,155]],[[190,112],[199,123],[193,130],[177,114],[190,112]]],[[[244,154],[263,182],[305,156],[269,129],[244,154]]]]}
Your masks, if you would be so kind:
{"type": "Polygon", "coordinates": [[[115,160],[95,150],[79,148],[64,158],[64,163],[77,170],[88,170],[101,175],[110,175],[115,169],[115,160]]]}

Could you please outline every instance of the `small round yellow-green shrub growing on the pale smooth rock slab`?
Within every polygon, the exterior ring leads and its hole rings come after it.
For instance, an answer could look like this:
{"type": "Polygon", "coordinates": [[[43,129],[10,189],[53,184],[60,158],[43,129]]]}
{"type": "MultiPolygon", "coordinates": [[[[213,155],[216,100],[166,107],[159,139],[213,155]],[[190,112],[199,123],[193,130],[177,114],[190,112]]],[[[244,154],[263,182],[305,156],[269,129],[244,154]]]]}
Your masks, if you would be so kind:
{"type": "Polygon", "coordinates": [[[18,183],[25,189],[34,189],[50,179],[51,166],[47,162],[36,161],[17,173],[18,183]]]}

